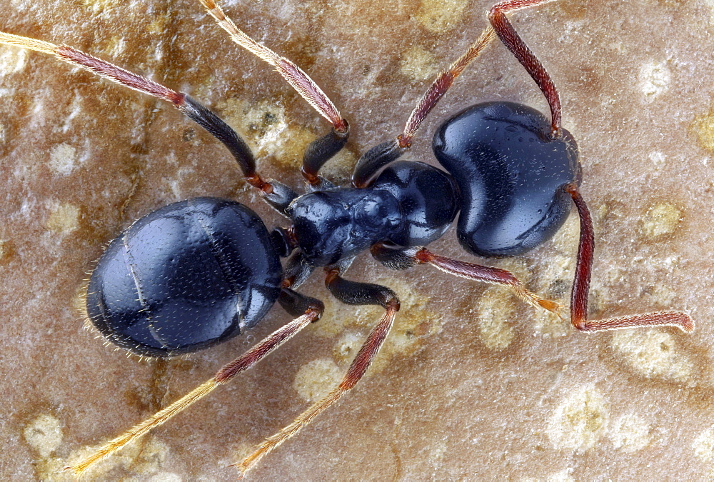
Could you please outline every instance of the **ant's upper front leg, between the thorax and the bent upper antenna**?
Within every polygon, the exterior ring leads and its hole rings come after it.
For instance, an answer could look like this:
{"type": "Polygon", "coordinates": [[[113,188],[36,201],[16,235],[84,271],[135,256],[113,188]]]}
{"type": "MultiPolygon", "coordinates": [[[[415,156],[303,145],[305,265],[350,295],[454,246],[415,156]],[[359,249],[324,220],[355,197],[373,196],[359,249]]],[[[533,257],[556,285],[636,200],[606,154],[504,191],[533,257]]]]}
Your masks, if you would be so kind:
{"type": "Polygon", "coordinates": [[[438,101],[452,86],[456,77],[466,69],[466,66],[475,60],[483,49],[494,39],[494,32],[487,27],[481,36],[471,44],[465,54],[459,57],[448,69],[441,71],[431,86],[416,104],[416,107],[406,121],[404,131],[396,139],[383,142],[366,151],[357,161],[352,174],[352,184],[364,188],[371,184],[377,172],[398,159],[411,146],[411,141],[429,112],[438,104],[438,101]]]}

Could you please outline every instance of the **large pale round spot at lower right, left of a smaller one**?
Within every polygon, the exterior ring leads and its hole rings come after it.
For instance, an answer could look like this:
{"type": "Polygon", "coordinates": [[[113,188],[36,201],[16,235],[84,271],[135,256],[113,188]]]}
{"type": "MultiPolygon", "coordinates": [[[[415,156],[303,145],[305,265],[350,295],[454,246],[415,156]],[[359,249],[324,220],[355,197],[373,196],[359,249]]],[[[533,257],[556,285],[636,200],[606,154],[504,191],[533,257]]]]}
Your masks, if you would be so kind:
{"type": "Polygon", "coordinates": [[[568,393],[548,420],[546,433],[555,448],[586,451],[598,443],[608,426],[605,398],[594,385],[568,393]]]}

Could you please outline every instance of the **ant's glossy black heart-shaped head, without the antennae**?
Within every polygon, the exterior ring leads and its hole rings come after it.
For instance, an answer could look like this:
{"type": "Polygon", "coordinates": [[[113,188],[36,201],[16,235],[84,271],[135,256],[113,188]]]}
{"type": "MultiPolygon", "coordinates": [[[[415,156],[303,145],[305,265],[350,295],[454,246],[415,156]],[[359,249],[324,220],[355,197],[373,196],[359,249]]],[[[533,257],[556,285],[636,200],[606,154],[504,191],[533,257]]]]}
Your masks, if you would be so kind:
{"type": "Polygon", "coordinates": [[[436,159],[461,192],[457,235],[478,256],[515,256],[550,239],[570,212],[563,186],[580,184],[578,146],[553,138],[540,112],[511,102],[473,106],[433,139],[436,159]]]}

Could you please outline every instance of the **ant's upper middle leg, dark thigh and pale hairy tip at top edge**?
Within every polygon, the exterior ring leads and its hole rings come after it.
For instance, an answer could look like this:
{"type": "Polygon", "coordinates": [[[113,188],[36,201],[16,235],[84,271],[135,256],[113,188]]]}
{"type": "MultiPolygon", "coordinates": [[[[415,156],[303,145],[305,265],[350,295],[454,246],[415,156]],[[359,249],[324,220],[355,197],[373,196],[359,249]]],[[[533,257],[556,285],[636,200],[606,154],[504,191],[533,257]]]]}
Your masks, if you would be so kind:
{"type": "Polygon", "coordinates": [[[251,54],[262,59],[275,67],[283,79],[295,89],[318,114],[323,116],[332,124],[332,131],[326,136],[313,141],[303,157],[301,172],[305,180],[311,186],[319,186],[321,179],[318,171],[332,156],[338,153],[347,142],[349,136],[349,126],[346,119],[335,107],[335,104],[320,89],[320,87],[293,61],[279,56],[268,47],[258,44],[245,32],[238,29],[236,24],[223,13],[214,0],[200,0],[203,7],[208,11],[216,23],[231,36],[236,44],[246,49],[251,54]]]}

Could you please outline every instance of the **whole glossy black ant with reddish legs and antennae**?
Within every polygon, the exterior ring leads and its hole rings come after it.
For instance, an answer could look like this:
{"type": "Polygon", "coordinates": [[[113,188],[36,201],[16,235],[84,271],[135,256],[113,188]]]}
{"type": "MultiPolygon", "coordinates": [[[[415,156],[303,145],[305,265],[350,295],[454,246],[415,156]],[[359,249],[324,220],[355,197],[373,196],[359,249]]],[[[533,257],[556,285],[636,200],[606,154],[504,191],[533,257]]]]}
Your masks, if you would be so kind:
{"type": "Polygon", "coordinates": [[[166,422],[317,321],[323,312],[321,301],[295,290],[322,267],[326,286],[338,300],[378,304],[385,313],[339,386],[246,458],[239,466],[241,474],[246,473],[353,388],[386,338],[399,309],[396,294],[385,286],[343,277],[353,258],[366,249],[389,268],[428,263],[456,276],[509,286],[524,301],[557,314],[557,303],[530,293],[508,271],[456,261],[424,247],[444,234],[459,211],[457,234],[466,251],[480,256],[515,256],[550,239],[565,221],[572,200],[580,215],[581,230],[570,301],[573,326],[581,331],[600,331],[670,325],[690,331],[693,321],[676,311],[605,320],[586,317],[594,241],[590,214],[578,190],[577,146],[560,125],[560,100],[553,81],[506,18],[510,11],[547,1],[551,0],[510,0],[494,6],[489,14],[492,27],[439,74],[400,136],[363,154],[353,173],[353,188],[346,189],[333,186],[319,175],[323,164],[343,148],[348,138],[348,124],[336,107],[291,61],[243,34],[213,0],[201,0],[234,41],[274,66],[331,122],[331,132],[306,151],[301,171],[309,192],[300,196],[278,181],[263,179],[246,144],[189,96],[68,46],[0,34],[4,44],[54,54],[171,102],[221,141],[248,184],[290,221],[288,228],[268,232],[258,216],[241,204],[225,199],[190,199],[144,216],[110,243],[92,273],[87,311],[106,338],[132,353],[166,357],[213,346],[255,326],[276,301],[296,319],[71,470],[84,473],[96,461],[166,422]],[[433,149],[448,174],[426,164],[398,161],[456,76],[496,35],[540,87],[550,106],[550,119],[520,104],[479,104],[448,119],[436,132],[433,149]],[[284,268],[281,257],[288,258],[284,268]]]}

